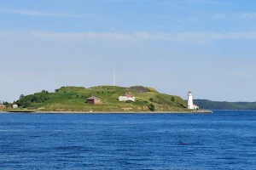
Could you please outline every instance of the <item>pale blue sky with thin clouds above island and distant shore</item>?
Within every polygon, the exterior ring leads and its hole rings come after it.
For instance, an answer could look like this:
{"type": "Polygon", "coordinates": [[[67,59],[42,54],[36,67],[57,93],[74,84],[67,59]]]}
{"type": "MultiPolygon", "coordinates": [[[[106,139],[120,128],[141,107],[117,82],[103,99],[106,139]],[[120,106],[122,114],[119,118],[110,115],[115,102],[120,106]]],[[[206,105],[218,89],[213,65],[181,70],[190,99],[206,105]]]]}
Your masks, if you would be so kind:
{"type": "Polygon", "coordinates": [[[144,85],[256,101],[256,2],[2,0],[0,99],[61,86],[144,85]]]}

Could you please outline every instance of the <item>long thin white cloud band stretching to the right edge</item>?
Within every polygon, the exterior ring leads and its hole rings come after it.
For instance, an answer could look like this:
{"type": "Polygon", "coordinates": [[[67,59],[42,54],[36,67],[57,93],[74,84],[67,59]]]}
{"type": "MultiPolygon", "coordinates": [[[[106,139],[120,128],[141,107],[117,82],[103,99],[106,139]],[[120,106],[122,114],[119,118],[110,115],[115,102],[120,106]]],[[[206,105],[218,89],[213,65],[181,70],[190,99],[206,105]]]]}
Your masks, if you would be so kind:
{"type": "Polygon", "coordinates": [[[41,32],[32,31],[32,35],[44,39],[61,39],[61,40],[83,40],[83,39],[107,39],[118,41],[129,40],[151,40],[151,41],[174,41],[174,42],[210,42],[213,40],[230,40],[230,39],[256,39],[256,31],[252,32],[229,32],[216,33],[208,32],[148,32],[135,31],[132,33],[125,32],[41,32]]]}

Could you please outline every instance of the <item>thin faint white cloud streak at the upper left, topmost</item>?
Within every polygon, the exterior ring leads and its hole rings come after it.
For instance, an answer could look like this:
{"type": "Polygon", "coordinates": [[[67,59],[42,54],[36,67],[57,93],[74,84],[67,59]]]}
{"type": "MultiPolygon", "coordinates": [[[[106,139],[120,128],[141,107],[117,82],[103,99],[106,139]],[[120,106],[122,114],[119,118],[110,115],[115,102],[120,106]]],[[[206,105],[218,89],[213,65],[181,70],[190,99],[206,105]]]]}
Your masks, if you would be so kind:
{"type": "Polygon", "coordinates": [[[35,11],[35,10],[6,9],[6,8],[1,8],[0,13],[22,14],[22,15],[31,15],[31,16],[70,17],[70,18],[91,17],[96,15],[96,14],[49,13],[49,12],[42,12],[42,11],[35,11]]]}

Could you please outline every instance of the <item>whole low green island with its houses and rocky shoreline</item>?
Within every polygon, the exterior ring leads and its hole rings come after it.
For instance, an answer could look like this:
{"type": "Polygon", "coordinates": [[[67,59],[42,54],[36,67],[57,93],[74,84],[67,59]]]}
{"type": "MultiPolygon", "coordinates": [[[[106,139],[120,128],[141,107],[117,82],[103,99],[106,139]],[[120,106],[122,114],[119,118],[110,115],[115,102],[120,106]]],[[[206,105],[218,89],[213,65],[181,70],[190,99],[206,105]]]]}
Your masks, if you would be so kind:
{"type": "Polygon", "coordinates": [[[9,112],[49,113],[211,113],[200,109],[189,110],[187,102],[176,95],[161,94],[154,88],[133,86],[61,87],[55,92],[46,90],[20,95],[15,108],[9,112]]]}

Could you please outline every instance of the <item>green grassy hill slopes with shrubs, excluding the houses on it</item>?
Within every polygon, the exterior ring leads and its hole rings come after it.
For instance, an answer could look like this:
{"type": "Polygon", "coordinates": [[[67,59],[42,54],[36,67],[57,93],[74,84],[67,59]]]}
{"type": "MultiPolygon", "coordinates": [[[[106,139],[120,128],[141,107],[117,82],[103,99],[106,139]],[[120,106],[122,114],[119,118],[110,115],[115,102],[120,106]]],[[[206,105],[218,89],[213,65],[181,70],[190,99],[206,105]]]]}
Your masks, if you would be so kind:
{"type": "Polygon", "coordinates": [[[153,104],[155,111],[188,111],[187,103],[178,96],[160,94],[154,88],[135,86],[97,86],[92,88],[62,87],[54,93],[43,90],[40,93],[22,97],[16,101],[20,108],[33,111],[149,111],[153,104]],[[120,102],[119,96],[133,94],[135,102],[120,102]],[[102,99],[102,105],[85,103],[91,95],[102,99]]]}

